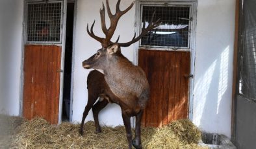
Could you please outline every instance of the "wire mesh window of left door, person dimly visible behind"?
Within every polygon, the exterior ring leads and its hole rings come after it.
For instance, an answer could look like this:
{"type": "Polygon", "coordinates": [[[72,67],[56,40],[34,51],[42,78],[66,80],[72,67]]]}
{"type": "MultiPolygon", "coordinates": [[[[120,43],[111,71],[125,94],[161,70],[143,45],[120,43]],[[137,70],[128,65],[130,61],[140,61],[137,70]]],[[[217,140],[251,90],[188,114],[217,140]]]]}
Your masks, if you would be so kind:
{"type": "Polygon", "coordinates": [[[60,42],[62,3],[27,5],[27,43],[60,42]]]}

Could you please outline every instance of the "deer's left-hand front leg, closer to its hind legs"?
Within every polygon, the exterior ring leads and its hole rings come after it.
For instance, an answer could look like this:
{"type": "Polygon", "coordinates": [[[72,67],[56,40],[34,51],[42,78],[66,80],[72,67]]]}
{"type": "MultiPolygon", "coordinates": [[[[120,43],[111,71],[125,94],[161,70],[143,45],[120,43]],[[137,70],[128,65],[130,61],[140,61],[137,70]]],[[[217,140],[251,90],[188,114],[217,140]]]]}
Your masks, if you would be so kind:
{"type": "Polygon", "coordinates": [[[129,145],[129,149],[132,148],[133,133],[131,132],[131,120],[130,116],[122,110],[123,124],[125,124],[126,137],[129,145]]]}

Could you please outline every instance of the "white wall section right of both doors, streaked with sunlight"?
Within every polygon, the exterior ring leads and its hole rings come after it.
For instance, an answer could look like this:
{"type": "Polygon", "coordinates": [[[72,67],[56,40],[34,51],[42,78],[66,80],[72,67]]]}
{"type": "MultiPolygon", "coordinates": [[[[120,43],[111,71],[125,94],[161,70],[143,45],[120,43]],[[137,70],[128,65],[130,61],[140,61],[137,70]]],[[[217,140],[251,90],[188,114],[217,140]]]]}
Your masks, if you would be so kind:
{"type": "Polygon", "coordinates": [[[231,136],[235,0],[198,0],[193,122],[231,136]]]}

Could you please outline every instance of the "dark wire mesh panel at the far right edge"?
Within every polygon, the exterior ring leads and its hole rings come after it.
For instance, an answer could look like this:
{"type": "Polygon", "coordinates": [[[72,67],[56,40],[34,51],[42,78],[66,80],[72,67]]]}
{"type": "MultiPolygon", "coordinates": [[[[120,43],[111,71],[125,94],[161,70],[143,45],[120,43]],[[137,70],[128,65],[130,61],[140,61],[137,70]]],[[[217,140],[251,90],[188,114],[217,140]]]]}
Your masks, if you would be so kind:
{"type": "Polygon", "coordinates": [[[256,2],[244,1],[242,47],[239,50],[239,94],[256,101],[256,2]]]}

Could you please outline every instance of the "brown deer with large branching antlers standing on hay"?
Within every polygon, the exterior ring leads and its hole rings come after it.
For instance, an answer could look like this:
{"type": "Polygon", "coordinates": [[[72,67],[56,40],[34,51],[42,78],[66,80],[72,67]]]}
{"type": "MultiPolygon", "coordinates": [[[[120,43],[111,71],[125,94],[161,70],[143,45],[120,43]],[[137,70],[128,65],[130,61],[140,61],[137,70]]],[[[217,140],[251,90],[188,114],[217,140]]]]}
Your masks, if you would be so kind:
{"type": "MultiPolygon", "coordinates": [[[[94,106],[92,102],[95,102],[95,98],[91,99],[88,98],[88,104],[86,105],[85,112],[83,114],[83,120],[81,124],[80,133],[83,135],[83,123],[84,117],[86,117],[88,113],[88,109],[92,108],[94,111],[94,119],[96,124],[96,132],[101,132],[99,127],[99,122],[97,119],[97,114],[99,111],[107,106],[107,103],[113,102],[120,106],[122,111],[122,119],[123,124],[125,126],[127,141],[129,149],[134,146],[134,148],[142,148],[141,143],[141,120],[144,108],[146,108],[147,101],[149,100],[149,83],[147,81],[146,74],[144,71],[130,62],[125,56],[123,56],[121,52],[121,47],[129,47],[131,44],[135,43],[136,41],[140,40],[143,36],[149,32],[149,30],[154,29],[160,25],[160,19],[153,22],[153,18],[155,16],[155,12],[151,16],[151,20],[149,24],[146,26],[145,19],[142,27],[142,32],[139,36],[136,37],[134,34],[131,41],[120,43],[118,39],[113,42],[111,38],[116,30],[118,25],[118,21],[123,14],[128,12],[134,5],[131,3],[125,10],[120,10],[120,0],[116,3],[116,13],[112,14],[109,1],[106,0],[107,5],[107,14],[110,19],[110,27],[107,29],[105,23],[105,5],[103,3],[103,7],[100,9],[100,17],[101,17],[101,29],[105,34],[105,38],[101,38],[96,36],[93,32],[94,23],[92,26],[86,27],[86,31],[91,38],[94,40],[99,41],[101,43],[101,49],[97,50],[96,54],[92,55],[87,60],[83,61],[84,69],[96,69],[103,73],[103,87],[102,91],[98,91],[98,96],[102,95],[101,98],[103,100],[99,100],[94,106]],[[89,101],[92,100],[92,101],[89,101]],[[85,116],[84,116],[85,115],[85,116]],[[135,136],[133,139],[133,133],[131,131],[131,117],[136,117],[135,122],[135,136]]],[[[97,86],[97,85],[96,85],[97,86]]],[[[91,95],[88,88],[88,96],[91,95]]],[[[96,93],[97,94],[97,93],[96,93]]],[[[95,94],[95,95],[96,95],[95,94]]],[[[97,95],[96,95],[97,96],[97,95]]]]}

